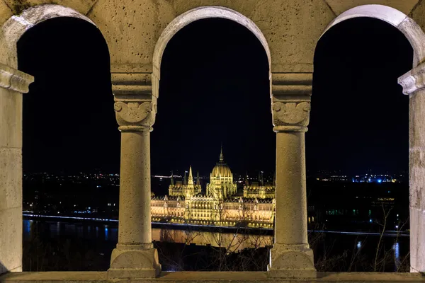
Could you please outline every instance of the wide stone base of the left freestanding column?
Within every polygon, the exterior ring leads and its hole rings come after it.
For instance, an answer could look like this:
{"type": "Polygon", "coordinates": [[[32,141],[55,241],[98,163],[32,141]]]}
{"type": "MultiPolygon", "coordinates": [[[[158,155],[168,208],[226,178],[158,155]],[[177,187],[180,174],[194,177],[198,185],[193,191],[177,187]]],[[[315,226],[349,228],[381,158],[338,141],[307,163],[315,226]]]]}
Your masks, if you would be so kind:
{"type": "Polygon", "coordinates": [[[117,245],[111,255],[108,279],[154,278],[161,273],[156,248],[148,245],[117,245]]]}

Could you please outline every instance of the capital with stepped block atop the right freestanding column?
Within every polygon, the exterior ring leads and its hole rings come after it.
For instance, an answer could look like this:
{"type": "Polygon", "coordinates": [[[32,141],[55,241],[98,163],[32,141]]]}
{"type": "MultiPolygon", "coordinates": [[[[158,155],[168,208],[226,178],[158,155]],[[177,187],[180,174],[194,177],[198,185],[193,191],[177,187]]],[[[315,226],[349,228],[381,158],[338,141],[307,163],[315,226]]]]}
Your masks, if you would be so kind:
{"type": "Polygon", "coordinates": [[[312,73],[273,73],[271,76],[273,130],[306,132],[310,121],[312,73]]]}

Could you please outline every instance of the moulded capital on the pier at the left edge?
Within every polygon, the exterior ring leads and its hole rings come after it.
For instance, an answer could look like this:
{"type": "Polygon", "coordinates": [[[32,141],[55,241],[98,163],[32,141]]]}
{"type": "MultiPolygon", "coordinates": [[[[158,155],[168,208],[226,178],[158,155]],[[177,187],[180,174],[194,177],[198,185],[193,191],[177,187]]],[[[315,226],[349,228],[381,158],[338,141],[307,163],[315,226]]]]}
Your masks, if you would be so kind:
{"type": "Polygon", "coordinates": [[[0,63],[0,88],[28,93],[30,83],[33,83],[33,81],[33,76],[0,63]]]}

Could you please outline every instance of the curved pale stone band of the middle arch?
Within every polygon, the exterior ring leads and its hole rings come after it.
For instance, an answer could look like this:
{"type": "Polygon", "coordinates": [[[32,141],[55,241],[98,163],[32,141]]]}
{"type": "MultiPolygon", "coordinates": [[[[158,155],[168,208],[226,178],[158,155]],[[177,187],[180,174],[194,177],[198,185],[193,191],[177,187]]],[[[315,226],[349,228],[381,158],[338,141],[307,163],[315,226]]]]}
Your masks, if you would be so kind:
{"type": "Polygon", "coordinates": [[[153,65],[152,95],[153,96],[158,97],[162,54],[164,54],[164,50],[169,40],[171,40],[171,38],[174,35],[176,35],[176,33],[178,33],[179,30],[184,28],[186,25],[198,20],[205,19],[205,18],[225,18],[227,20],[234,21],[236,23],[239,23],[240,25],[243,25],[245,28],[250,30],[251,33],[254,33],[254,35],[261,42],[261,45],[263,45],[264,51],[267,54],[269,77],[271,76],[270,49],[268,48],[266,37],[264,37],[263,33],[257,27],[257,25],[246,16],[230,8],[225,8],[222,6],[201,6],[201,7],[193,8],[192,10],[186,11],[186,13],[182,13],[177,18],[174,18],[174,20],[171,21],[171,23],[169,23],[169,25],[166,26],[162,34],[159,36],[157,45],[155,45],[154,57],[152,61],[152,65],[153,65]]]}

